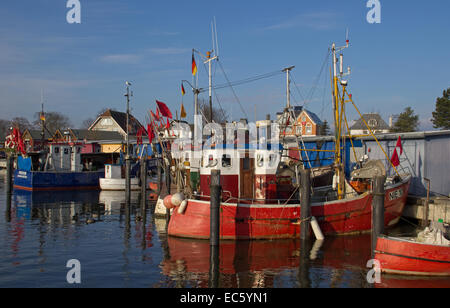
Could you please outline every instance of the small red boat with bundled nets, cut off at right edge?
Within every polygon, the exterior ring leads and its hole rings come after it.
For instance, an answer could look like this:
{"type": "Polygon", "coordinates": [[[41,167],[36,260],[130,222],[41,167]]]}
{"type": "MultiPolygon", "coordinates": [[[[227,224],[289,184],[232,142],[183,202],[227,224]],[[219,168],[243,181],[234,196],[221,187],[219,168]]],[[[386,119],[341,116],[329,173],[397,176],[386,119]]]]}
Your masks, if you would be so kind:
{"type": "Polygon", "coordinates": [[[402,275],[450,276],[450,233],[442,225],[435,223],[434,227],[427,227],[414,238],[378,237],[375,259],[380,262],[381,271],[402,275]]]}

